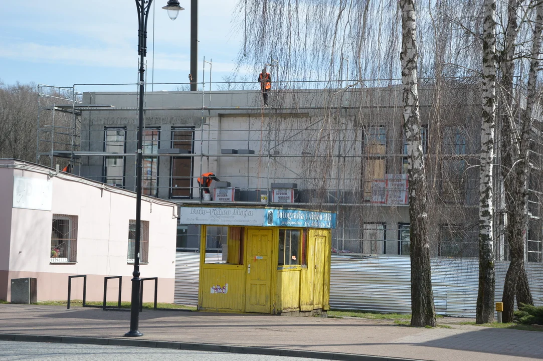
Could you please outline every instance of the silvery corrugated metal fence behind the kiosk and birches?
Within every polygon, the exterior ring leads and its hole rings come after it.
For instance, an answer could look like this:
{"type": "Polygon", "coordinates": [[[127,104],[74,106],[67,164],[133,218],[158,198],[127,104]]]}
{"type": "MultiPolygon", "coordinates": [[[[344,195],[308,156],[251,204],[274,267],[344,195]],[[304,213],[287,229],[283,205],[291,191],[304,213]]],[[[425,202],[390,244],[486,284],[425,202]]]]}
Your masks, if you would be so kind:
{"type": "MultiPolygon", "coordinates": [[[[175,302],[198,302],[199,253],[177,252],[175,302]]],[[[501,300],[509,262],[496,262],[496,300],[501,300]]],[[[477,259],[432,259],[432,286],[438,314],[475,317],[477,259]]],[[[543,305],[543,264],[526,263],[536,305],[543,305]]],[[[330,305],[334,309],[411,312],[408,257],[332,256],[330,305]]]]}

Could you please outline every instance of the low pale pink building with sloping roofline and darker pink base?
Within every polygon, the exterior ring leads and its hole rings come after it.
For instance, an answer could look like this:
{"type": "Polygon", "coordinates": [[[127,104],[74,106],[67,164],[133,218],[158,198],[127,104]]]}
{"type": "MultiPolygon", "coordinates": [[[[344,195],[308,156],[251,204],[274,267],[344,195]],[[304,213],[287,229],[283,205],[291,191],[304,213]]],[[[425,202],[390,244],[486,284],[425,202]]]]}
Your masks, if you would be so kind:
{"type": "MultiPolygon", "coordinates": [[[[123,276],[122,300],[130,300],[134,192],[11,159],[0,159],[0,185],[0,300],[23,277],[37,278],[37,300],[66,300],[70,275],[87,275],[89,301],[103,300],[105,276],[123,276]]],[[[141,277],[158,277],[158,301],[172,303],[177,207],[143,196],[141,219],[141,277]]],[[[153,286],[146,282],[144,302],[153,286]]],[[[110,280],[108,301],[117,295],[110,280]]],[[[74,278],[72,299],[82,298],[83,279],[74,278]]]]}

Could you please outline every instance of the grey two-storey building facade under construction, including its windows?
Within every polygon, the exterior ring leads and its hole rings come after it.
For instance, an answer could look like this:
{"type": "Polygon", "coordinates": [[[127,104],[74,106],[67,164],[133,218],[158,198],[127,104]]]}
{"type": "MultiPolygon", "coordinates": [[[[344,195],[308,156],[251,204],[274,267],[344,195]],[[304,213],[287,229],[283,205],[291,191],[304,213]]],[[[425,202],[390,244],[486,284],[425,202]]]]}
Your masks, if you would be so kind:
{"type": "MultiPolygon", "coordinates": [[[[72,158],[82,176],[134,190],[136,98],[84,93],[72,158]]],[[[432,257],[478,255],[478,99],[476,86],[420,86],[432,257]]],[[[258,91],[150,92],[145,107],[144,194],[200,202],[196,179],[213,172],[234,189],[212,184],[211,193],[237,194],[240,205],[264,200],[336,212],[337,254],[409,254],[401,86],[280,89],[270,107],[258,91]]],[[[539,210],[538,201],[533,206],[539,210]]],[[[541,229],[539,218],[532,228],[541,229]]],[[[541,262],[536,233],[526,259],[541,262]]],[[[179,224],[177,235],[179,249],[198,249],[197,227],[179,224]]],[[[497,258],[507,259],[504,238],[496,238],[497,258]]]]}

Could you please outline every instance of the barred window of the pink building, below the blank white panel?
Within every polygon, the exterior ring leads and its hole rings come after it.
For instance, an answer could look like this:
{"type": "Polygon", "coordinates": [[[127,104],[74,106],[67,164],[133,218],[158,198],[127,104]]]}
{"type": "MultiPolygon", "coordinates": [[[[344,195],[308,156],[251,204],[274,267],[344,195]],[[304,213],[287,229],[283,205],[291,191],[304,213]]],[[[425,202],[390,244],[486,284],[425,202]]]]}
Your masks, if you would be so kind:
{"type": "Polygon", "coordinates": [[[51,232],[51,263],[77,262],[78,216],[53,214],[51,232]]]}

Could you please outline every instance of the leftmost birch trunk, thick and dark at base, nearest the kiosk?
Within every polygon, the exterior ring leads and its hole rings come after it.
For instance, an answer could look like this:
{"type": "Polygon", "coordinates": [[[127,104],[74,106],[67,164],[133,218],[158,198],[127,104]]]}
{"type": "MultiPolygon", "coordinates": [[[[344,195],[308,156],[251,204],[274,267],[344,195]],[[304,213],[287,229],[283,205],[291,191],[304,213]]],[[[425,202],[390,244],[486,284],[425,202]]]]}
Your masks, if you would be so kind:
{"type": "Polygon", "coordinates": [[[400,0],[402,11],[403,129],[406,134],[411,219],[411,325],[435,326],[434,296],[430,273],[427,185],[420,136],[417,81],[418,50],[413,0],[400,0]]]}

